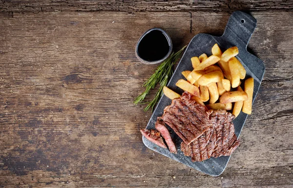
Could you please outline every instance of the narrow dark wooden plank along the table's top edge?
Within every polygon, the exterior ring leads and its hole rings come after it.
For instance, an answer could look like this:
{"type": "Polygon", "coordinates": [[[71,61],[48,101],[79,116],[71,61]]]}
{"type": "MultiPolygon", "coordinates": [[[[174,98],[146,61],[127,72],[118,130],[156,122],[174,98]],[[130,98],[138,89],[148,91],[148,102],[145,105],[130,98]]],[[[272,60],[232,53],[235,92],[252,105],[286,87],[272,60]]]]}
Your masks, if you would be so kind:
{"type": "Polygon", "coordinates": [[[293,0],[1,0],[0,12],[290,10],[293,0]]]}

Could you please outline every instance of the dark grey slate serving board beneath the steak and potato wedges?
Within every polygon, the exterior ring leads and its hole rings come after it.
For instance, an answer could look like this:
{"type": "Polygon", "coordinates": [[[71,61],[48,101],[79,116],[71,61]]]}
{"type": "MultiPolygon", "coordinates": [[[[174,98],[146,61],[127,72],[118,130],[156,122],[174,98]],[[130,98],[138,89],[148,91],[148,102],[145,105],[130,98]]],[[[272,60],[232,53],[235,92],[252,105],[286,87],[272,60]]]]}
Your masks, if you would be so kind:
{"type": "MultiPolygon", "coordinates": [[[[263,75],[265,73],[265,66],[262,60],[253,56],[249,52],[247,52],[247,45],[251,38],[251,35],[256,28],[256,19],[252,16],[236,11],[233,12],[230,16],[228,24],[226,26],[225,32],[221,37],[215,37],[207,34],[198,34],[188,44],[188,47],[182,56],[173,76],[171,77],[167,87],[172,89],[173,91],[182,94],[183,90],[178,88],[175,83],[179,79],[185,79],[181,74],[182,71],[192,70],[190,58],[193,56],[200,56],[203,53],[206,53],[208,56],[211,54],[211,47],[218,43],[221,50],[224,52],[226,49],[237,46],[239,49],[239,54],[236,56],[243,66],[246,69],[247,77],[254,78],[254,92],[253,92],[253,101],[258,92],[260,83],[263,79],[263,75]]],[[[243,82],[243,81],[242,81],[243,82]]],[[[242,83],[243,84],[243,83],[242,83]]],[[[155,122],[158,116],[163,114],[164,108],[167,105],[171,104],[171,100],[163,95],[158,102],[158,105],[152,114],[146,129],[155,129],[155,122]]],[[[239,137],[239,134],[244,126],[244,122],[247,118],[247,114],[240,113],[237,118],[233,121],[235,126],[235,134],[239,137]]],[[[178,162],[181,162],[188,167],[193,169],[197,169],[206,174],[212,176],[220,175],[227,166],[227,163],[230,159],[230,156],[221,156],[218,158],[210,158],[203,162],[191,162],[191,158],[184,156],[180,150],[180,143],[182,142],[181,138],[177,136],[170,128],[168,128],[171,132],[171,136],[177,146],[178,154],[170,153],[169,150],[158,147],[157,145],[149,142],[143,136],[143,142],[151,150],[154,150],[158,153],[161,153],[171,159],[174,159],[178,162]]],[[[240,140],[241,143],[241,140],[240,140]]]]}

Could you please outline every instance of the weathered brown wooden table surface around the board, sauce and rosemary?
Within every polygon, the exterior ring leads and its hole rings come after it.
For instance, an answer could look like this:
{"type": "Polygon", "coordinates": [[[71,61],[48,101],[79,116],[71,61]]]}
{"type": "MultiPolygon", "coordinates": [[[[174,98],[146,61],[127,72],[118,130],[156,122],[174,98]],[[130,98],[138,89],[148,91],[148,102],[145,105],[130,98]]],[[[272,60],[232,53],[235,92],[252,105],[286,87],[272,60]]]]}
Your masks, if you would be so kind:
{"type": "Polygon", "coordinates": [[[292,187],[292,18],[292,0],[1,0],[0,187],[292,187]],[[248,50],[266,73],[241,146],[211,177],[144,146],[151,112],[133,99],[156,65],[134,47],[152,27],[175,51],[221,35],[235,10],[258,21],[248,50]]]}

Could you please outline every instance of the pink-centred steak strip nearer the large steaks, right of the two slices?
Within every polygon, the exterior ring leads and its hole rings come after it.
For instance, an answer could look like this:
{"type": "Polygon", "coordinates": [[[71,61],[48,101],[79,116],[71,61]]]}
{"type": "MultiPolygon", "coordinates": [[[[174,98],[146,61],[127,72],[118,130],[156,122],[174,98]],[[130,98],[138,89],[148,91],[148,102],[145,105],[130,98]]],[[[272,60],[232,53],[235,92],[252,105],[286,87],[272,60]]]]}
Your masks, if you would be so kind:
{"type": "Polygon", "coordinates": [[[156,127],[156,130],[158,130],[162,134],[163,138],[165,139],[165,141],[167,143],[167,146],[168,146],[170,152],[177,154],[176,146],[175,146],[174,142],[172,141],[170,133],[169,133],[164,121],[161,119],[161,117],[157,118],[157,122],[156,122],[155,127],[156,127]]]}

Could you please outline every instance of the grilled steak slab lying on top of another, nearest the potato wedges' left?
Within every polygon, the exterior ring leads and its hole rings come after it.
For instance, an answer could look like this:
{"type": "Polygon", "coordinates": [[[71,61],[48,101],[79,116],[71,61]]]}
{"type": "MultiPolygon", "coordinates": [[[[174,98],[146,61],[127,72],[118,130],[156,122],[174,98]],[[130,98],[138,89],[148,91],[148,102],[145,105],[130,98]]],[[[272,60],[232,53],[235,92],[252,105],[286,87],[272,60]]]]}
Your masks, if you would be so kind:
{"type": "Polygon", "coordinates": [[[188,145],[211,126],[209,112],[205,107],[190,100],[191,94],[185,92],[180,98],[164,109],[164,122],[188,145]]]}

